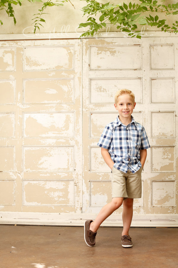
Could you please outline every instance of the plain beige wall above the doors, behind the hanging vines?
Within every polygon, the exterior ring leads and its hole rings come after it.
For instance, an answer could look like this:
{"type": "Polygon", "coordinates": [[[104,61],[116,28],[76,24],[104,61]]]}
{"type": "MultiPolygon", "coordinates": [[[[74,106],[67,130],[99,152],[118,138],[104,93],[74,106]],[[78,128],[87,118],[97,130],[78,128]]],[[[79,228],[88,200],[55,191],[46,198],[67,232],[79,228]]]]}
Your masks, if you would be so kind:
{"type": "MultiPolygon", "coordinates": [[[[160,0],[159,0],[160,1],[160,0]]],[[[158,1],[158,2],[159,2],[158,1]]],[[[82,32],[83,29],[78,26],[80,23],[83,23],[87,20],[87,16],[82,17],[83,13],[81,8],[86,6],[85,1],[80,0],[71,0],[74,7],[70,4],[70,2],[65,3],[63,7],[49,7],[45,10],[46,13],[50,13],[49,15],[45,14],[42,16],[46,20],[46,24],[42,24],[44,26],[41,27],[40,33],[48,33],[48,32],[62,32],[64,33],[64,37],[67,37],[65,33],[67,32],[82,32]]],[[[101,2],[107,3],[108,0],[102,0],[101,2]]],[[[125,0],[125,3],[129,3],[130,0],[125,0]]],[[[134,1],[133,1],[134,2],[134,1]]],[[[176,3],[177,0],[165,1],[165,4],[176,3]]],[[[110,1],[110,3],[123,3],[122,1],[110,1]]],[[[139,1],[135,1],[135,3],[140,3],[139,1]]],[[[162,2],[160,1],[160,4],[162,2]]],[[[32,18],[35,13],[38,13],[38,9],[41,8],[40,3],[32,4],[28,1],[22,3],[22,6],[14,6],[15,10],[15,18],[17,20],[16,26],[14,25],[13,18],[8,18],[7,13],[4,10],[0,10],[0,18],[3,21],[3,25],[1,26],[1,34],[19,34],[19,33],[33,33],[33,25],[32,18]]],[[[154,13],[153,13],[154,14],[154,13]]],[[[146,13],[145,13],[146,15],[146,13]]],[[[160,14],[160,18],[165,18],[163,14],[160,14]]],[[[169,18],[170,22],[171,19],[169,18]]],[[[143,26],[144,27],[144,26],[143,26]]],[[[139,27],[142,29],[142,26],[139,27]]],[[[145,30],[147,31],[160,31],[160,28],[157,27],[147,27],[145,30]]],[[[106,29],[103,28],[105,32],[106,29]]],[[[109,27],[107,31],[117,31],[116,27],[109,27]]]]}

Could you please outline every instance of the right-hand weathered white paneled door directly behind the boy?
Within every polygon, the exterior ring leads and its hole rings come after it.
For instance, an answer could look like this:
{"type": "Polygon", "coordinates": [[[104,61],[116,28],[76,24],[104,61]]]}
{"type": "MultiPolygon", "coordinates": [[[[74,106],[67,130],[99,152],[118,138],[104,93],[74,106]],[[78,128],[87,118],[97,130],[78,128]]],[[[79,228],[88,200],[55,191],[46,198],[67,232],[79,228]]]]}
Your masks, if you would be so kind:
{"type": "MultiPolygon", "coordinates": [[[[97,143],[117,117],[116,91],[128,88],[136,99],[133,116],[144,125],[151,145],[132,226],[177,225],[177,39],[84,39],[83,74],[83,213],[94,218],[112,199],[111,170],[97,143]]],[[[121,212],[104,225],[122,225],[121,212]]]]}

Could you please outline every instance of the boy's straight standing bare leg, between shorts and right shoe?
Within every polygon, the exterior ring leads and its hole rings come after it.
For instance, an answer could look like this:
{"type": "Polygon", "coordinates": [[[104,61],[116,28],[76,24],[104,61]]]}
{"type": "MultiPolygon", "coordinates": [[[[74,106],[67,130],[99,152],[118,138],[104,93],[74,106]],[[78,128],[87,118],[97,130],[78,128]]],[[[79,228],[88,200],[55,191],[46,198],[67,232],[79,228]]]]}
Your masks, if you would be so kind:
{"type": "Polygon", "coordinates": [[[131,226],[132,222],[132,216],[133,216],[133,198],[127,198],[123,201],[123,214],[122,214],[122,219],[123,219],[123,232],[122,236],[127,235],[128,236],[128,231],[131,226]]]}

